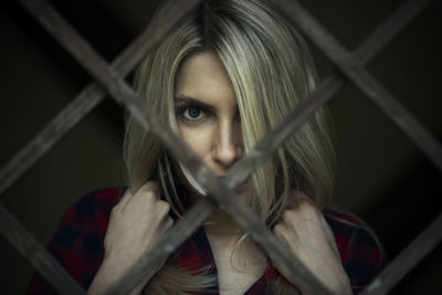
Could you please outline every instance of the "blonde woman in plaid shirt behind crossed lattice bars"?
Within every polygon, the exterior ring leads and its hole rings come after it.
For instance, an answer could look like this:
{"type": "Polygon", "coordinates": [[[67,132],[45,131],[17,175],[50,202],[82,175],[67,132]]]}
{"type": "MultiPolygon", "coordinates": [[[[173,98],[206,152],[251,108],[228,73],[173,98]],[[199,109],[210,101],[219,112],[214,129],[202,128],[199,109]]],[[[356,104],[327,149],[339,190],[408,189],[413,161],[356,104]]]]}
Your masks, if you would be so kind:
{"type": "MultiPolygon", "coordinates": [[[[203,1],[136,76],[138,94],[220,178],[315,84],[306,44],[265,0],[203,1]]],[[[236,192],[323,284],[351,294],[379,272],[383,257],[358,219],[325,209],[333,159],[320,109],[236,192]]],[[[82,199],[49,247],[91,294],[109,287],[206,196],[131,118],[125,161],[128,189],[82,199]]],[[[43,289],[36,281],[35,293],[43,289]]],[[[303,294],[296,285],[218,210],[134,294],[303,294]]]]}

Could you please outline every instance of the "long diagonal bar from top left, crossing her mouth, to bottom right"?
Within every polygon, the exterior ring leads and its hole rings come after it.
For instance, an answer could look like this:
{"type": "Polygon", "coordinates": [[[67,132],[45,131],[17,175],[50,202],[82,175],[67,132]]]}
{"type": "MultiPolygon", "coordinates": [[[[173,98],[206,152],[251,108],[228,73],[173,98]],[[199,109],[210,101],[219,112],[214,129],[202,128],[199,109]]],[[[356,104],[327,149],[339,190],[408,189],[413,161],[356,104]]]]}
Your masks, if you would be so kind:
{"type": "MultiPolygon", "coordinates": [[[[193,151],[178,138],[168,126],[150,112],[143,101],[131,91],[131,88],[107,66],[94,50],[85,42],[64,20],[43,0],[32,1],[22,0],[31,13],[61,42],[69,52],[90,72],[104,88],[119,103],[122,103],[131,115],[144,126],[150,129],[158,140],[166,146],[170,154],[179,159],[203,185],[221,207],[229,212],[238,224],[251,233],[251,236],[260,243],[267,252],[272,261],[280,265],[287,278],[297,282],[301,289],[312,294],[330,294],[330,292],[313,276],[309,271],[293,255],[278,239],[265,226],[264,222],[243,203],[243,201],[227,188],[225,183],[220,182],[217,176],[199,159],[193,151]],[[56,30],[54,29],[57,28],[56,30]],[[60,30],[60,28],[63,28],[60,30]],[[63,31],[63,34],[60,32],[63,31]]],[[[158,244],[157,244],[158,246],[158,244]]],[[[137,270],[131,267],[128,274],[136,276],[137,270]]],[[[146,272],[145,268],[143,268],[146,272]]],[[[129,277],[129,275],[126,275],[129,277]]],[[[119,281],[116,284],[135,286],[140,281],[129,277],[129,281],[119,281]]],[[[115,294],[119,289],[115,291],[115,294]]]]}

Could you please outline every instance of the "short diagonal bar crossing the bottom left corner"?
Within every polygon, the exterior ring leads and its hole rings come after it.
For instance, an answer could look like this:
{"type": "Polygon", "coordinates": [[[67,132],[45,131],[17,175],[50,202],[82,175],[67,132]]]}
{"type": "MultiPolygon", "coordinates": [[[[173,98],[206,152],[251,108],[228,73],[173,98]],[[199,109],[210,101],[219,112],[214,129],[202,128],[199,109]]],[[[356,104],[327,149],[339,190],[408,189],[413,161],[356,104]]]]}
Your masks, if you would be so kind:
{"type": "Polygon", "coordinates": [[[52,257],[45,247],[30,234],[8,210],[0,204],[0,232],[57,292],[65,295],[86,294],[72,276],[52,257]]]}

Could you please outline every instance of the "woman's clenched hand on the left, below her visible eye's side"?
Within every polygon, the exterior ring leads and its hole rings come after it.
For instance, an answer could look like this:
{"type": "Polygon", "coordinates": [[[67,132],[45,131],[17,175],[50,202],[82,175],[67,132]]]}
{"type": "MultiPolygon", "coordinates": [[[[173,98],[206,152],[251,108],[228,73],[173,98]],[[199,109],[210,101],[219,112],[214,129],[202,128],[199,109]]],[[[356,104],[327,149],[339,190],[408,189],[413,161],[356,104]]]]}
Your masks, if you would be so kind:
{"type": "MultiPolygon", "coordinates": [[[[112,210],[104,240],[105,257],[90,294],[104,293],[172,225],[169,209],[169,204],[159,199],[154,181],[146,182],[135,194],[129,190],[125,192],[112,210]]],[[[133,294],[139,294],[149,280],[146,277],[133,294]]]]}

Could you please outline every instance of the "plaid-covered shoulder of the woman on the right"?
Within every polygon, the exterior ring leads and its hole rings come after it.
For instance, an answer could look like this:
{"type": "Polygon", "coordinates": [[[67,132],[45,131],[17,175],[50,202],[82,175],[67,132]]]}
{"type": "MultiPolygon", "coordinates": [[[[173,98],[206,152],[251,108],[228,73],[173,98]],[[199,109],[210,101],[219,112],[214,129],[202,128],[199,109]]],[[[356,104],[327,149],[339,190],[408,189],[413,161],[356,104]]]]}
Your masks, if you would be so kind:
{"type": "Polygon", "coordinates": [[[366,286],[387,262],[382,244],[359,217],[336,207],[326,208],[324,217],[335,235],[344,268],[354,291],[366,286]]]}

